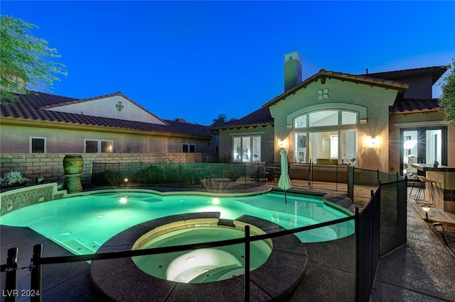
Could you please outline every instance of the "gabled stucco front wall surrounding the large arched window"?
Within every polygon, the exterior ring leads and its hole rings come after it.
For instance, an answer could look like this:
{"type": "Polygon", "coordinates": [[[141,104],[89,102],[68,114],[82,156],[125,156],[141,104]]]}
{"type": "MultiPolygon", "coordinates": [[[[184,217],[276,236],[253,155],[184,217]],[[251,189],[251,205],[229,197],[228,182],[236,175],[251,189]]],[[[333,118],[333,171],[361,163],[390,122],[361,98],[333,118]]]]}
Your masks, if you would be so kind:
{"type": "Polygon", "coordinates": [[[294,154],[294,129],[287,127],[289,114],[309,106],[321,106],[319,109],[346,108],[344,104],[353,104],[366,107],[366,117],[368,118],[366,123],[360,123],[357,126],[358,167],[387,171],[389,164],[389,106],[392,106],[396,95],[397,91],[392,89],[343,82],[338,79],[326,79],[325,84],[321,84],[321,81],[312,82],[305,89],[300,89],[296,94],[292,94],[270,107],[270,112],[274,117],[276,140],[274,160],[279,161],[279,139],[284,139],[286,142],[288,160],[292,160],[291,156],[294,154]],[[319,89],[328,89],[328,99],[319,99],[319,89]],[[326,107],[324,103],[335,103],[336,106],[326,107]],[[375,147],[370,147],[366,142],[370,136],[378,138],[378,144],[375,147]]]}

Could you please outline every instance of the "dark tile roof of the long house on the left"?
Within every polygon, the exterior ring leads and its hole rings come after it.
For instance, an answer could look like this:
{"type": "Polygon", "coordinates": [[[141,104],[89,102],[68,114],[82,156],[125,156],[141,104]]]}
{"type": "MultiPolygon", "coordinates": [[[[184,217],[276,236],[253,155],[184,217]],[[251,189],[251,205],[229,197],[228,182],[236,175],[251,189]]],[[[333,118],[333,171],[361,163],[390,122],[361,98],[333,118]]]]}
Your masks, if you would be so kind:
{"type": "Polygon", "coordinates": [[[55,94],[47,94],[44,92],[38,93],[36,91],[28,92],[29,92],[28,94],[17,94],[19,97],[18,101],[11,101],[10,102],[11,104],[9,105],[1,105],[0,106],[1,118],[17,118],[32,121],[56,122],[63,124],[76,124],[86,126],[100,126],[107,128],[119,128],[125,130],[139,130],[156,134],[162,133],[171,135],[196,136],[203,138],[211,137],[210,132],[208,131],[208,127],[205,125],[197,125],[192,123],[183,123],[162,119],[161,121],[163,121],[165,125],[158,125],[154,123],[145,123],[139,121],[126,121],[117,118],[103,118],[99,116],[87,116],[82,114],[46,110],[47,108],[53,108],[55,106],[75,104],[92,99],[101,99],[107,96],[122,95],[120,92],[117,92],[116,94],[109,94],[106,96],[97,96],[96,98],[90,99],[75,99],[70,98],[68,96],[58,96],[55,94]]]}

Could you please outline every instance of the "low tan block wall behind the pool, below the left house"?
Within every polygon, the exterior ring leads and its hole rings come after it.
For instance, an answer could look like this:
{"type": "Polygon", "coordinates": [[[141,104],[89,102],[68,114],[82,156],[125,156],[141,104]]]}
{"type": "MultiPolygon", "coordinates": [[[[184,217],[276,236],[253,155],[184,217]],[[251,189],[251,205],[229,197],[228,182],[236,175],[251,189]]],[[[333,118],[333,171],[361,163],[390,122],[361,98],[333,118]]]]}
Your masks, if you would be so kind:
{"type": "MultiPolygon", "coordinates": [[[[41,174],[44,181],[65,181],[65,153],[1,153],[0,172],[20,171],[33,182],[41,174]]],[[[218,162],[218,153],[85,153],[82,184],[90,184],[93,162],[218,162]]]]}

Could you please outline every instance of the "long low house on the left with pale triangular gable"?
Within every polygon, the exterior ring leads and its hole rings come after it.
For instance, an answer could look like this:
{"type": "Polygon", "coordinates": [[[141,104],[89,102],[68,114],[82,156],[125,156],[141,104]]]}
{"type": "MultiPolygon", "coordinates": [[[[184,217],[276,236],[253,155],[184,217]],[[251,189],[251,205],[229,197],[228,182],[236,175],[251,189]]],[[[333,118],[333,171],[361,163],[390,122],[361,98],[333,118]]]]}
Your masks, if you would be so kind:
{"type": "Polygon", "coordinates": [[[121,92],[74,99],[17,94],[1,106],[1,153],[215,152],[207,126],[165,120],[121,92]]]}

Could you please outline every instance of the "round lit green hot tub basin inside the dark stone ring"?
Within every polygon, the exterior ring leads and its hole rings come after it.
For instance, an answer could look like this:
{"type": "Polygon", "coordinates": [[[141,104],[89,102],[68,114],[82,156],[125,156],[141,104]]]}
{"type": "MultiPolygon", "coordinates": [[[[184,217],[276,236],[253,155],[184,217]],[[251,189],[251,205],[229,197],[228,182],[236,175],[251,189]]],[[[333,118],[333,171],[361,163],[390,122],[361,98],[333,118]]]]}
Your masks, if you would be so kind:
{"type": "MultiPolygon", "coordinates": [[[[134,243],[132,249],[170,247],[241,238],[245,237],[244,225],[245,223],[235,220],[232,221],[232,226],[214,225],[208,220],[204,220],[204,223],[195,223],[191,220],[171,223],[162,225],[159,232],[151,230],[142,235],[134,243]]],[[[255,226],[250,226],[250,228],[254,229],[252,233],[264,234],[264,231],[255,226]]],[[[269,258],[272,253],[272,240],[251,242],[250,252],[250,271],[252,271],[269,258]]],[[[160,279],[183,283],[214,282],[244,274],[245,245],[226,245],[147,255],[134,257],[133,261],[143,272],[160,279]]]]}

